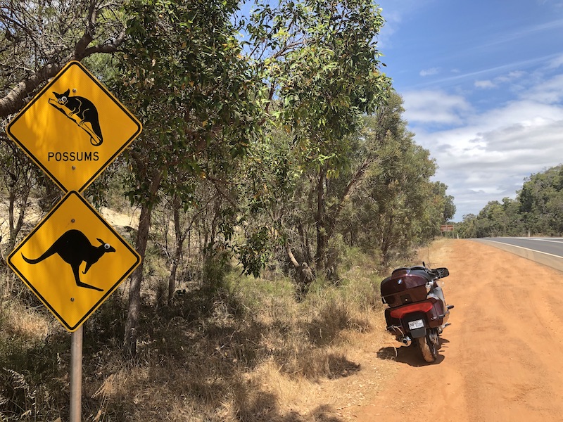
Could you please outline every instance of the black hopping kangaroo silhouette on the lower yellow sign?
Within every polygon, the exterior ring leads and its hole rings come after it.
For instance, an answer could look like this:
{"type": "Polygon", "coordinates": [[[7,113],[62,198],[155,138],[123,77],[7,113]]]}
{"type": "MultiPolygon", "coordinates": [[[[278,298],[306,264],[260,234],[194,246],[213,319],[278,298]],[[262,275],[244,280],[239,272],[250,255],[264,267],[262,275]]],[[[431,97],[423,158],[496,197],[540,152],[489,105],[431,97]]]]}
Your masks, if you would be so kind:
{"type": "Polygon", "coordinates": [[[46,260],[46,258],[51,255],[58,254],[58,256],[63,258],[64,262],[67,262],[70,264],[70,267],[72,267],[72,274],[75,276],[76,285],[78,287],[91,288],[98,290],[99,292],[103,292],[103,289],[101,288],[91,286],[87,283],[82,283],[82,281],[80,281],[79,274],[80,264],[82,264],[82,262],[86,262],[86,269],[84,269],[84,272],[82,273],[86,274],[92,264],[98,262],[103,254],[107,252],[115,252],[115,248],[113,248],[113,246],[109,243],[105,243],[100,238],[98,238],[98,241],[101,245],[94,246],[90,243],[82,231],[72,229],[62,234],[61,237],[58,238],[55,243],[53,243],[53,245],[51,245],[51,247],[39,258],[30,260],[29,258],[23,256],[23,254],[22,257],[25,262],[29,264],[37,264],[38,262],[42,262],[42,260],[46,260]]]}

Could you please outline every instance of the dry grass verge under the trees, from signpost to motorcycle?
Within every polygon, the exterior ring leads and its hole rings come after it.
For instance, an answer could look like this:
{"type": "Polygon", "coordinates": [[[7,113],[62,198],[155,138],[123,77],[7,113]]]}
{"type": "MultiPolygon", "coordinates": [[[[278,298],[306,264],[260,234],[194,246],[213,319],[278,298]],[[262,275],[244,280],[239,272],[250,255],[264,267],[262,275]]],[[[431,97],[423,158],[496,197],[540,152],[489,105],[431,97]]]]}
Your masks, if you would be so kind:
{"type": "MultiPolygon", "coordinates": [[[[84,324],[83,420],[347,421],[395,371],[377,353],[389,343],[382,277],[369,260],[346,266],[334,285],[319,281],[299,301],[289,279],[236,274],[211,296],[191,286],[172,307],[147,304],[133,365],[120,354],[125,304],[118,294],[106,301],[84,324]]],[[[27,338],[18,350],[45,366],[34,374],[0,354],[0,366],[12,365],[28,385],[29,397],[9,397],[20,400],[13,420],[65,420],[68,334],[53,330],[50,315],[14,307],[4,318],[11,328],[4,324],[2,335],[27,338]],[[32,391],[44,396],[41,409],[32,391]]]]}

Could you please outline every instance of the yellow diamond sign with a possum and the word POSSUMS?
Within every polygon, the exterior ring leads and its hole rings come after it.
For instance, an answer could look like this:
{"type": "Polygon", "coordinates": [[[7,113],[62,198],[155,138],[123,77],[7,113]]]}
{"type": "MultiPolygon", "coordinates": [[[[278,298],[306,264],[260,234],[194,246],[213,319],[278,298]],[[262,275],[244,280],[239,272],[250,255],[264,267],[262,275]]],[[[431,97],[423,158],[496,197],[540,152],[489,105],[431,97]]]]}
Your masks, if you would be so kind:
{"type": "Polygon", "coordinates": [[[82,192],[141,133],[141,123],[77,61],[66,65],[6,133],[65,192],[82,192]]]}

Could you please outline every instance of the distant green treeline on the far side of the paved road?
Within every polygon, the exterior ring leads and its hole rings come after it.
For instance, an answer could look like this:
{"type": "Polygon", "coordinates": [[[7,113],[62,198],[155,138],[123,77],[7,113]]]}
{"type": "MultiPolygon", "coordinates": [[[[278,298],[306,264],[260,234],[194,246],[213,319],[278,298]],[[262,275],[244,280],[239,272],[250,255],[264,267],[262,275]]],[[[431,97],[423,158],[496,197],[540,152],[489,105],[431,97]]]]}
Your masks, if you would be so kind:
{"type": "Polygon", "coordinates": [[[464,238],[561,236],[563,165],[527,177],[516,199],[489,202],[478,215],[463,216],[457,233],[464,238]]]}

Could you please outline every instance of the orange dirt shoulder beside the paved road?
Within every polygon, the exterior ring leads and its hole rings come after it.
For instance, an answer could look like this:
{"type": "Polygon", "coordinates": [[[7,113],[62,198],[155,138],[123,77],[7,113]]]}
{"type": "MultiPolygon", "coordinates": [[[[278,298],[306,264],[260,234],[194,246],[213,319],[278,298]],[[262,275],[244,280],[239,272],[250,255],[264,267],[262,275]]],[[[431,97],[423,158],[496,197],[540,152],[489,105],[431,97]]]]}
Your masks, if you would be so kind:
{"type": "Polygon", "coordinates": [[[439,241],[421,259],[450,269],[441,356],[427,365],[399,348],[396,375],[352,420],[563,421],[563,273],[474,241],[439,241]]]}

